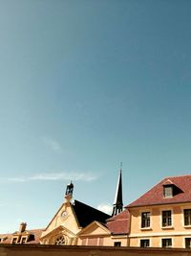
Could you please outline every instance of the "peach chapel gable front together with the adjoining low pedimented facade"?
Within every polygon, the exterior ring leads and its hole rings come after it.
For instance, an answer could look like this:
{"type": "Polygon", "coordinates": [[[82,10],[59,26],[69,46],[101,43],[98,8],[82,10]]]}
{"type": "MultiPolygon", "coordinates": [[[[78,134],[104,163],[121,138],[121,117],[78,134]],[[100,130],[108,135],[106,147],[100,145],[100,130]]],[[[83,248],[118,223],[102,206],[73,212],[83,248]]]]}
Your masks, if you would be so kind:
{"type": "Polygon", "coordinates": [[[70,201],[65,201],[53,220],[42,232],[40,244],[127,246],[127,235],[112,235],[110,230],[98,221],[82,228],[75,216],[70,201]]]}

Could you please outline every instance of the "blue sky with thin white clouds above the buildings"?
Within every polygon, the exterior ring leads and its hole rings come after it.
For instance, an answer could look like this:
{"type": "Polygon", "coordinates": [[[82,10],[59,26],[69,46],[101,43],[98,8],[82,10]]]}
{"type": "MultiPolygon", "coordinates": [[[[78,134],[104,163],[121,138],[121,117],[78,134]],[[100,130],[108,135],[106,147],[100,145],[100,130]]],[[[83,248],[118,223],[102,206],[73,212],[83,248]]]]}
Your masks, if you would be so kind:
{"type": "Polygon", "coordinates": [[[0,233],[191,172],[190,0],[0,0],[0,233]]]}

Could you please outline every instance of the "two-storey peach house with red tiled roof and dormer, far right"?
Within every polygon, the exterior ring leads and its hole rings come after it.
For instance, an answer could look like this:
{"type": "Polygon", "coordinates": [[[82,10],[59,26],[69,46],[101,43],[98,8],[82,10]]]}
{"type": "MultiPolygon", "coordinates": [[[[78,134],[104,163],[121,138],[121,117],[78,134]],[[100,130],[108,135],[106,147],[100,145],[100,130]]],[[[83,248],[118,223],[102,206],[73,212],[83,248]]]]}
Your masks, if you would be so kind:
{"type": "Polygon", "coordinates": [[[191,175],[164,178],[126,208],[130,246],[191,247],[191,175]]]}

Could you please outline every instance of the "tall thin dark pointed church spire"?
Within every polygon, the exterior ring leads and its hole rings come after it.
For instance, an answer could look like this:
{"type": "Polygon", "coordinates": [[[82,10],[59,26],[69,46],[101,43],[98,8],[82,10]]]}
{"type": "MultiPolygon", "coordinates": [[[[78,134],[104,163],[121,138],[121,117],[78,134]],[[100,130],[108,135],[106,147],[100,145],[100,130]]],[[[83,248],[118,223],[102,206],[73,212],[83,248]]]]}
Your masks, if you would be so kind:
{"type": "Polygon", "coordinates": [[[118,175],[118,182],[117,182],[117,192],[116,197],[114,201],[114,207],[113,207],[113,214],[112,216],[115,216],[122,212],[123,210],[123,203],[122,203],[122,163],[120,165],[120,172],[118,175]]]}

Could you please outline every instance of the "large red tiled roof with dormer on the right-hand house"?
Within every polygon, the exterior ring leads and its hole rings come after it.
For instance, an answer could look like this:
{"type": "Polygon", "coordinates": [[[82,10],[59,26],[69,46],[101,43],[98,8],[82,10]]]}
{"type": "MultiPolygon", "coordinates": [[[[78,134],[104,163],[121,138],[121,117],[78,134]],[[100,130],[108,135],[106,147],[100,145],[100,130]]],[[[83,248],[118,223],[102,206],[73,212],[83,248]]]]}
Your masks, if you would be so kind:
{"type": "Polygon", "coordinates": [[[159,184],[146,192],[143,196],[130,203],[126,207],[137,207],[156,204],[169,204],[191,202],[191,175],[172,176],[162,179],[159,184]],[[173,185],[175,195],[172,198],[163,197],[163,186],[173,185]]]}

